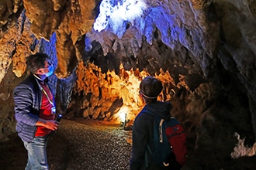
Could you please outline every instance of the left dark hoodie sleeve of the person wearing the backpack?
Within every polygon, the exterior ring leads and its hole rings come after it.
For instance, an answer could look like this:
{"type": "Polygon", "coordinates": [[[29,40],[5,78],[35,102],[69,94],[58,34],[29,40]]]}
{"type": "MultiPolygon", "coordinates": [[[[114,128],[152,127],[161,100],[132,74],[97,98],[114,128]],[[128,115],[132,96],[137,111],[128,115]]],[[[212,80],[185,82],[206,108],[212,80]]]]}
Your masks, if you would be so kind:
{"type": "Polygon", "coordinates": [[[133,145],[130,169],[138,170],[145,165],[145,152],[149,140],[149,126],[147,114],[138,114],[133,123],[133,145]]]}

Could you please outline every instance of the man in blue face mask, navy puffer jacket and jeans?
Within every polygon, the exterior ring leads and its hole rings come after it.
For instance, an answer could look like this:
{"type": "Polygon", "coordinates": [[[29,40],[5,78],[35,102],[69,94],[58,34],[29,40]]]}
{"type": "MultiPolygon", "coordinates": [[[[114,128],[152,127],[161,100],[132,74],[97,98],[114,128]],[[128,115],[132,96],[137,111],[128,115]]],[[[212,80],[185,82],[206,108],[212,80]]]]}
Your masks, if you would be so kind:
{"type": "Polygon", "coordinates": [[[26,169],[48,169],[47,140],[58,128],[55,118],[54,94],[47,77],[54,73],[50,57],[36,53],[26,58],[30,75],[14,90],[16,131],[28,154],[26,169]]]}

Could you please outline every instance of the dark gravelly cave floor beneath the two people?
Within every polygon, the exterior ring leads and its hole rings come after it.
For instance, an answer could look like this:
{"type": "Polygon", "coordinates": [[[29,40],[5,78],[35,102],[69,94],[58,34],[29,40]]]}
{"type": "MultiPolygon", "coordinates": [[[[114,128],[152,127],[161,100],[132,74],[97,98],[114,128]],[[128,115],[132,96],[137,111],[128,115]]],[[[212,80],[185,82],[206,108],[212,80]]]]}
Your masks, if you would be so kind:
{"type": "MultiPolygon", "coordinates": [[[[12,134],[9,138],[9,141],[0,143],[0,169],[24,169],[27,156],[22,141],[17,134],[12,134]]],[[[102,121],[63,119],[47,145],[50,170],[128,170],[130,157],[131,131],[123,130],[119,124],[102,121]]],[[[213,162],[214,160],[209,160],[202,163],[199,157],[189,153],[188,166],[182,169],[256,169],[255,156],[227,160],[223,168],[216,168],[219,166],[213,165],[213,162]]]]}

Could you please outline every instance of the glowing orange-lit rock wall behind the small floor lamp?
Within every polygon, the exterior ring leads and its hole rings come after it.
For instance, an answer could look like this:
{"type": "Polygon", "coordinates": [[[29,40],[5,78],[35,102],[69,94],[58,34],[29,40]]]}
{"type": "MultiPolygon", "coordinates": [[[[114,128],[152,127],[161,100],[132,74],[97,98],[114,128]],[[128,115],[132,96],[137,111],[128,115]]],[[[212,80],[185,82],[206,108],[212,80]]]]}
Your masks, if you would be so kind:
{"type": "MultiPolygon", "coordinates": [[[[175,93],[171,89],[175,86],[175,80],[168,71],[160,71],[161,73],[154,76],[165,85],[158,100],[170,100],[175,93]]],[[[149,75],[146,70],[125,70],[123,64],[120,64],[119,74],[116,74],[114,70],[102,73],[94,63],[86,66],[84,62],[79,63],[74,93],[83,93],[80,107],[83,117],[100,118],[120,124],[126,114],[126,125],[133,124],[133,120],[144,107],[144,101],[139,94],[140,82],[149,75]],[[113,106],[117,109],[112,110],[113,106]]]]}

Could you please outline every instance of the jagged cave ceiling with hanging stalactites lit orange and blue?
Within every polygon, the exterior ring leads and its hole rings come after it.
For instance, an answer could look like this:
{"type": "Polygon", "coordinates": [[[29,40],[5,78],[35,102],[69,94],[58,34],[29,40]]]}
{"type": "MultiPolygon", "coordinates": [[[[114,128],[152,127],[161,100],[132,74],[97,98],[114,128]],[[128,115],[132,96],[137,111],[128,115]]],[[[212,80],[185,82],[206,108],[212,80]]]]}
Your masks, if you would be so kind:
{"type": "MultiPolygon", "coordinates": [[[[102,2],[113,6],[126,1],[102,2]]],[[[117,17],[101,9],[99,0],[2,0],[0,80],[9,69],[22,76],[26,56],[39,50],[39,40],[44,39],[55,48],[44,50],[57,56],[58,78],[70,76],[81,59],[96,63],[104,73],[119,73],[120,63],[125,70],[147,70],[151,75],[160,70],[179,75],[174,70],[182,67],[200,80],[214,79],[221,67],[256,101],[254,1],[139,2],[144,2],[137,4],[139,17],[127,19],[129,15],[117,17]],[[99,12],[108,22],[97,31],[93,26],[99,12]]]]}

